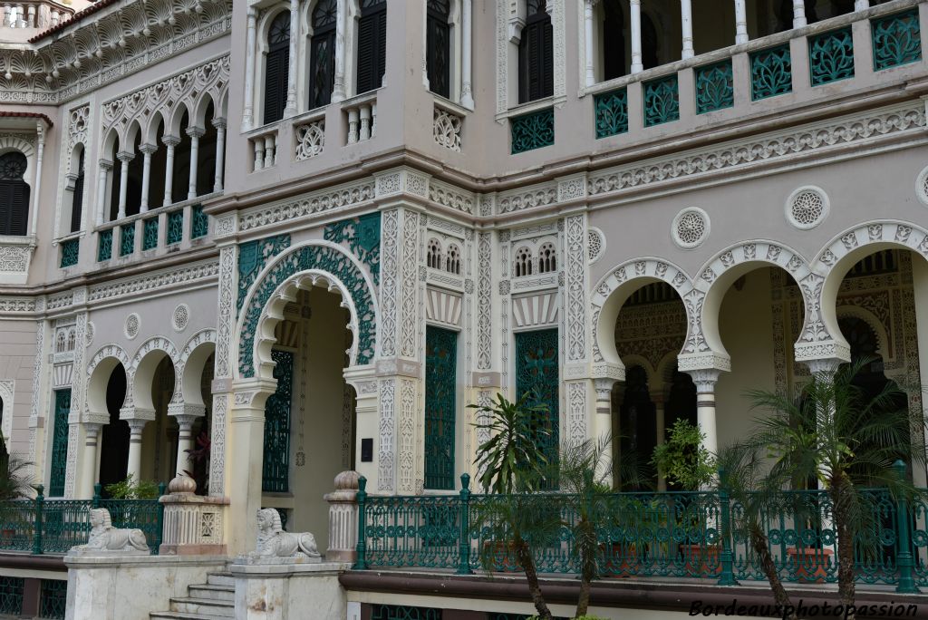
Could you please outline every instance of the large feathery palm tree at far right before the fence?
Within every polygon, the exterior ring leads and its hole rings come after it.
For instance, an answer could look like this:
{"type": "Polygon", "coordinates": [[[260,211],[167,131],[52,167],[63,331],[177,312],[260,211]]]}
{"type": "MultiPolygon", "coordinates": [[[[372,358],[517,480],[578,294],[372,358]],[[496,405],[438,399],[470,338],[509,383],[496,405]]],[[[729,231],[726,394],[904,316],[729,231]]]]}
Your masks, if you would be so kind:
{"type": "Polygon", "coordinates": [[[793,397],[749,392],[753,407],[767,416],[755,420],[756,433],[737,448],[741,458],[768,461],[767,474],[754,481],[760,483],[761,497],[813,479],[828,493],[845,609],[855,600],[855,540],[875,547],[874,536],[858,535],[880,526],[875,497],[864,489],[883,487],[894,498],[926,498],[923,489],[893,468],[897,459],[924,462],[923,449],[913,450],[911,444],[911,437],[922,436],[922,411],[909,409],[908,394],[892,381],[876,394],[858,386],[857,374],[871,362],[863,358],[843,365],[833,380],[830,372],[819,371],[793,397]]]}

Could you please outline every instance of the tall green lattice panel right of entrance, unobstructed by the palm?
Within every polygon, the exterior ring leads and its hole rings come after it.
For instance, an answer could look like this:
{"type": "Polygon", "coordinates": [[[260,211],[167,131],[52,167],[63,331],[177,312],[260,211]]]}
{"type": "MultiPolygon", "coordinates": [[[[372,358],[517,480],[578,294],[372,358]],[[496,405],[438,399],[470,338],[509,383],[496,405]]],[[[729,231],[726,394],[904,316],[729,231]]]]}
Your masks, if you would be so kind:
{"type": "Polygon", "coordinates": [[[458,332],[425,330],[425,488],[455,488],[458,332]]]}

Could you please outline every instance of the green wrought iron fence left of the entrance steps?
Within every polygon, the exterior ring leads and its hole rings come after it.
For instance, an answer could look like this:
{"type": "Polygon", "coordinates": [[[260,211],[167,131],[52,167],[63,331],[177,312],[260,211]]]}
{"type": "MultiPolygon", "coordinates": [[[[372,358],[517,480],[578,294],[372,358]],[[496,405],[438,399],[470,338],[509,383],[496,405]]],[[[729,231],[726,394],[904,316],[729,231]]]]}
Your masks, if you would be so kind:
{"type": "MultiPolygon", "coordinates": [[[[36,487],[34,499],[0,501],[0,549],[33,554],[63,554],[83,545],[90,534],[90,510],[110,510],[113,527],[138,528],[154,554],[161,546],[164,509],[157,499],[45,499],[36,487]]],[[[160,494],[164,495],[161,484],[160,494]]]]}

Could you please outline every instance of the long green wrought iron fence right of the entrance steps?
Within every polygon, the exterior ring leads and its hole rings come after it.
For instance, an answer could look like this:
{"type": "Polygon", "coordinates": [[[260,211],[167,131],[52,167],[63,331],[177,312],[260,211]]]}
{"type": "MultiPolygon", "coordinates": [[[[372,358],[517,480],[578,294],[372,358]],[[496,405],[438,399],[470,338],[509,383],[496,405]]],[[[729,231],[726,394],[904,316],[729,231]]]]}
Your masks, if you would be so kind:
{"type": "MultiPolygon", "coordinates": [[[[827,491],[783,491],[763,502],[752,495],[729,497],[725,489],[500,497],[471,495],[467,474],[461,483],[455,495],[380,497],[367,495],[362,478],[354,567],[521,572],[513,540],[522,536],[539,573],[575,575],[577,533],[586,526],[586,539],[596,541],[599,575],[714,578],[733,585],[767,579],[751,536],[759,529],[783,581],[838,579],[827,491]],[[585,521],[584,515],[598,516],[585,521]]],[[[862,491],[861,497],[871,516],[854,541],[857,582],[903,592],[928,586],[928,503],[909,506],[882,489],[862,491]]]]}

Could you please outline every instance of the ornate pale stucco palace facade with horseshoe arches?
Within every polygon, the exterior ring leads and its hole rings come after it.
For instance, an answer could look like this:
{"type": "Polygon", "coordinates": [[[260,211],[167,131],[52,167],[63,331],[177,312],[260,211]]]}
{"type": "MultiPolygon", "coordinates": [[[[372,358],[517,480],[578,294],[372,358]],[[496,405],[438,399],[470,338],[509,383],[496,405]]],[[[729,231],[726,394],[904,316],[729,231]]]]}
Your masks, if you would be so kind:
{"type": "Polygon", "coordinates": [[[928,384],[926,6],[705,4],[5,8],[10,451],[324,549],[338,472],[454,491],[497,392],[648,455],[858,355],[928,384]]]}

